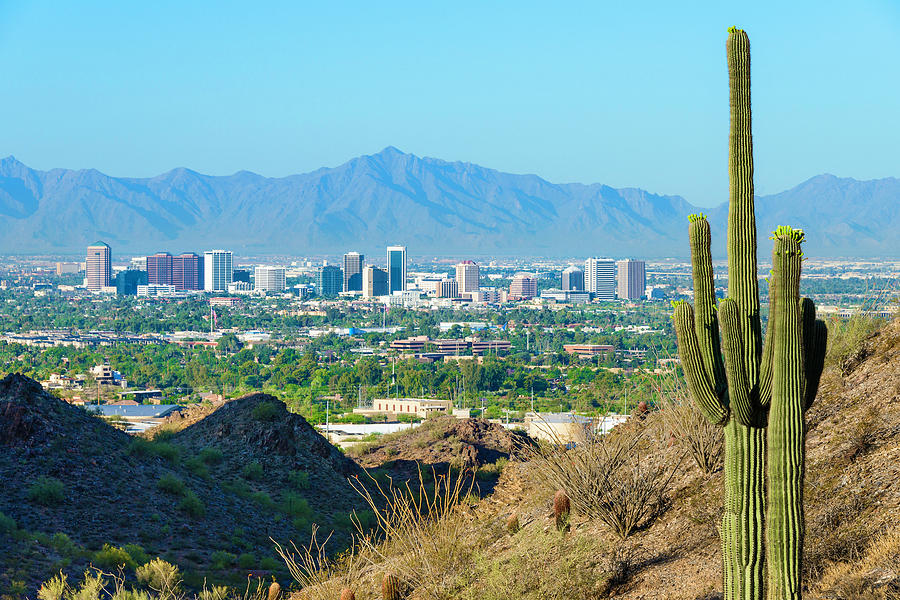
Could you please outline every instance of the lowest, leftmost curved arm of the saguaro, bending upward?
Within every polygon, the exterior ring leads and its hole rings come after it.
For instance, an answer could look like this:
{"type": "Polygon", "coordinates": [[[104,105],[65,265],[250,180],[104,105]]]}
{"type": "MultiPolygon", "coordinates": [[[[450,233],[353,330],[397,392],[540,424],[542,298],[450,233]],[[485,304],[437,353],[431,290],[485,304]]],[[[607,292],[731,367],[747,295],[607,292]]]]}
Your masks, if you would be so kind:
{"type": "Polygon", "coordinates": [[[675,305],[675,334],[678,338],[678,354],[691,396],[703,416],[713,424],[728,419],[728,409],[719,400],[709,374],[703,364],[697,331],[694,328],[694,308],[687,302],[675,305]]]}

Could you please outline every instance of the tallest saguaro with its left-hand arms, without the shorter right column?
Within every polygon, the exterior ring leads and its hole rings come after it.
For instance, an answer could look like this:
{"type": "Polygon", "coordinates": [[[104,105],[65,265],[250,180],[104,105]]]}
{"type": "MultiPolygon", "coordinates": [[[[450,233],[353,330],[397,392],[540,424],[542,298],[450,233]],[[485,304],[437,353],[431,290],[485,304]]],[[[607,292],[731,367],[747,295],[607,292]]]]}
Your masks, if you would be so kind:
{"type": "Polygon", "coordinates": [[[685,379],[706,418],[724,427],[725,512],[722,517],[726,600],[763,597],[765,408],[750,114],[750,41],[729,29],[726,44],[731,106],[728,146],[728,299],[716,307],[709,222],[691,215],[689,237],[695,308],[675,307],[685,379]],[[695,312],[696,309],[696,312],[695,312]],[[721,340],[719,330],[721,327],[721,340]],[[724,360],[723,360],[724,353],[724,360]]]}

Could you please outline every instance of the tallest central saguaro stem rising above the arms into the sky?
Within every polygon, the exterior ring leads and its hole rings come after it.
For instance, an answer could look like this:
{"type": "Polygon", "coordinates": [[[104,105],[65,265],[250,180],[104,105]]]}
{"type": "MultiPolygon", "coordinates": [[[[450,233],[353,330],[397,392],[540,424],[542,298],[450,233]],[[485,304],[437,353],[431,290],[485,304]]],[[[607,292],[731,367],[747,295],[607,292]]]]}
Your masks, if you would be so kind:
{"type": "Polygon", "coordinates": [[[753,199],[753,131],[750,112],[750,40],[729,30],[728,55],[731,129],[728,136],[728,296],[740,309],[744,332],[744,368],[751,388],[759,381],[762,332],[756,271],[756,214],[753,199]]]}

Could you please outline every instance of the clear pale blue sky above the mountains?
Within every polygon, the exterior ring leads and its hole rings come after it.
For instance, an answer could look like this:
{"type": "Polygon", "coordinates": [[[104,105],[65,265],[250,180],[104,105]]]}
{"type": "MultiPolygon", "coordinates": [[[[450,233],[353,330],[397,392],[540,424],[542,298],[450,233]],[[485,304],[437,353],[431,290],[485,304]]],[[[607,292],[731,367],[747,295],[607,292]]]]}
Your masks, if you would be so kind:
{"type": "Polygon", "coordinates": [[[729,25],[757,193],[900,176],[897,0],[0,0],[0,156],[282,176],[393,145],[715,204],[729,25]]]}

